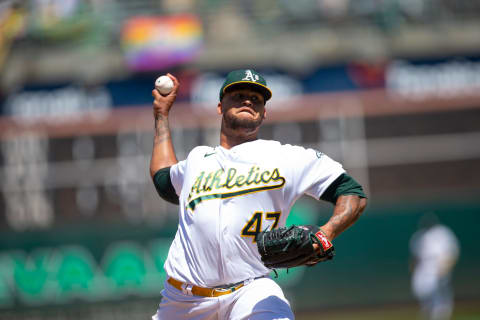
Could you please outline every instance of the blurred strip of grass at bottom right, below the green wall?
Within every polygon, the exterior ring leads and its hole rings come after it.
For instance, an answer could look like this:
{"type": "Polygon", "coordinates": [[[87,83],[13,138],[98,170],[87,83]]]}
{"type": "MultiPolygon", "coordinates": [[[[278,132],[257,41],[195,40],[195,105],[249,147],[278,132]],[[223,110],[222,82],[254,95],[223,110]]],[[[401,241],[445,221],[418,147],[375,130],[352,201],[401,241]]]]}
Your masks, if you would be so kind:
{"type": "MultiPolygon", "coordinates": [[[[422,319],[416,305],[379,306],[325,312],[297,313],[296,320],[409,320],[422,319]]],[[[480,302],[456,302],[451,320],[480,320],[480,302]]]]}

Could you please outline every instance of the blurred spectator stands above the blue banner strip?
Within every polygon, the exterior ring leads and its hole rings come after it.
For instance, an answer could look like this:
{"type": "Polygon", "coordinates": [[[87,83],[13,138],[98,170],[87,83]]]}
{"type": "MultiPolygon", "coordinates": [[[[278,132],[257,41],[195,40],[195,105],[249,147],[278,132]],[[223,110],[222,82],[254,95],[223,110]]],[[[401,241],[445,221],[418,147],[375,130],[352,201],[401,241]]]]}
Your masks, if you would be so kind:
{"type": "Polygon", "coordinates": [[[478,43],[479,15],[480,4],[466,0],[6,0],[0,86],[95,84],[175,65],[132,61],[149,38],[189,46],[187,57],[174,60],[202,69],[254,63],[306,72],[352,59],[464,54],[478,43]],[[172,34],[177,23],[182,30],[172,34]]]}

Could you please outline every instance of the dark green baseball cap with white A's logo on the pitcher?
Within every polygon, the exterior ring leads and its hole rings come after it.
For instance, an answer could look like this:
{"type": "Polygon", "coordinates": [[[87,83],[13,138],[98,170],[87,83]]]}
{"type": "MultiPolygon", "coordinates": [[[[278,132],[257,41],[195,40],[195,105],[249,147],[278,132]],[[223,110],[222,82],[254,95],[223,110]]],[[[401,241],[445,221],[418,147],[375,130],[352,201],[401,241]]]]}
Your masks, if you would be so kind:
{"type": "Polygon", "coordinates": [[[245,85],[260,92],[265,98],[265,102],[272,97],[272,91],[267,87],[267,82],[261,74],[253,69],[234,70],[227,75],[225,82],[220,88],[220,101],[225,92],[233,87],[245,85]]]}

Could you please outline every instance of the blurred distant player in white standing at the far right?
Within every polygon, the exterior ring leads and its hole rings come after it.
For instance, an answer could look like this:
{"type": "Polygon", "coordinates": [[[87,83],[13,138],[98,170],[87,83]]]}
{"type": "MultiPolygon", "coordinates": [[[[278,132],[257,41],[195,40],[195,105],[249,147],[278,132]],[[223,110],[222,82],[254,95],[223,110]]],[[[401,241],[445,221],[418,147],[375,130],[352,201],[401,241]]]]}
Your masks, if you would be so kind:
{"type": "Polygon", "coordinates": [[[450,319],[454,295],[450,280],[460,252],[457,237],[433,213],[425,214],[412,236],[412,289],[425,319],[450,319]]]}

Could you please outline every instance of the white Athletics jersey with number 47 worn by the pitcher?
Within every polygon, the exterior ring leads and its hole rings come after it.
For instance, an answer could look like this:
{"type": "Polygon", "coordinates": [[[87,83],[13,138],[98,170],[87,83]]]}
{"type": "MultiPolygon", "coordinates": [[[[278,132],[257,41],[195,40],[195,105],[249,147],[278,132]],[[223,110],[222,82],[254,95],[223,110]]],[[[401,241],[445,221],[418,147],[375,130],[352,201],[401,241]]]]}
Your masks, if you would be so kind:
{"type": "Polygon", "coordinates": [[[167,275],[214,287],[268,274],[255,235],[285,226],[299,197],[319,198],[344,172],[316,150],[277,141],[194,148],[170,169],[180,208],[167,275]]]}

